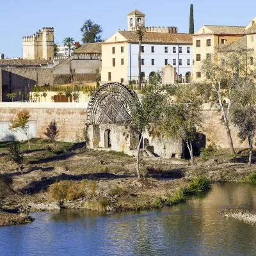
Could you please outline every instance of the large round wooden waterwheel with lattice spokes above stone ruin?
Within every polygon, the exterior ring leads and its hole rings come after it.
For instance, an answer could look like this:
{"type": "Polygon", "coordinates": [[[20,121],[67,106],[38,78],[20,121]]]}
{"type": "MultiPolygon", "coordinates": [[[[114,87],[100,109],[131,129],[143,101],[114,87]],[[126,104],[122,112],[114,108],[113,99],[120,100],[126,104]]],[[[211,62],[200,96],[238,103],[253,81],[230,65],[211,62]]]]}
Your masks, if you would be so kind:
{"type": "Polygon", "coordinates": [[[90,99],[87,124],[132,124],[132,108],[140,104],[137,94],[124,84],[106,83],[90,99]]]}

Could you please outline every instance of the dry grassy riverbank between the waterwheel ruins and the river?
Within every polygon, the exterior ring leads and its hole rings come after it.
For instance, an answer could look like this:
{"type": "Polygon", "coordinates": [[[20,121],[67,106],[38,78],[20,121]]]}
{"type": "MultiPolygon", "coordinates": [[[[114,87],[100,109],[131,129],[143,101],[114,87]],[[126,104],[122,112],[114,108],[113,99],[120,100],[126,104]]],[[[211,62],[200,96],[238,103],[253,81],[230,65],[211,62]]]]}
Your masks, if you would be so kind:
{"type": "Polygon", "coordinates": [[[97,211],[153,209],[170,204],[170,198],[198,177],[239,181],[256,172],[255,164],[248,168],[245,163],[246,150],[237,156],[218,150],[196,157],[195,168],[183,159],[144,158],[138,180],[136,159],[120,152],[35,139],[31,150],[22,144],[25,160],[17,165],[10,161],[6,147],[0,145],[0,170],[3,177],[12,179],[14,192],[4,198],[4,209],[26,209],[29,203],[97,211]]]}

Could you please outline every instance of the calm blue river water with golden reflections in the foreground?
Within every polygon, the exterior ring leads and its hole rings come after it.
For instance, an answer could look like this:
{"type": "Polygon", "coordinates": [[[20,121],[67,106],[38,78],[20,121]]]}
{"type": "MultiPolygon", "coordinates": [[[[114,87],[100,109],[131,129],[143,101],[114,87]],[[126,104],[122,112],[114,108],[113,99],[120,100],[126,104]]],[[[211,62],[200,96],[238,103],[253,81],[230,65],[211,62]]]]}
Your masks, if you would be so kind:
{"type": "Polygon", "coordinates": [[[207,195],[157,211],[40,212],[0,227],[0,255],[256,255],[256,226],[218,211],[256,211],[256,186],[216,183],[207,195]]]}

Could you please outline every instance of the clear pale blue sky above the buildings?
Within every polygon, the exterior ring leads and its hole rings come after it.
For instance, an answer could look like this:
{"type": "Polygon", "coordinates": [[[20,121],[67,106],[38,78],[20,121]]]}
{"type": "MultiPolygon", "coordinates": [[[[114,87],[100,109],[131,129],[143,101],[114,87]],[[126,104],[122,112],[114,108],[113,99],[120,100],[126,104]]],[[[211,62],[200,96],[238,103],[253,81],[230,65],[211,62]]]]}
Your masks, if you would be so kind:
{"type": "Polygon", "coordinates": [[[256,1],[231,0],[8,0],[0,5],[0,52],[6,57],[22,56],[22,36],[43,27],[54,27],[56,43],[70,36],[81,41],[81,26],[91,19],[100,24],[107,39],[118,27],[127,29],[127,13],[137,9],[146,14],[146,26],[177,26],[188,33],[189,6],[193,3],[195,31],[204,24],[246,26],[256,16],[256,1]],[[248,7],[250,6],[250,8],[248,7]]]}

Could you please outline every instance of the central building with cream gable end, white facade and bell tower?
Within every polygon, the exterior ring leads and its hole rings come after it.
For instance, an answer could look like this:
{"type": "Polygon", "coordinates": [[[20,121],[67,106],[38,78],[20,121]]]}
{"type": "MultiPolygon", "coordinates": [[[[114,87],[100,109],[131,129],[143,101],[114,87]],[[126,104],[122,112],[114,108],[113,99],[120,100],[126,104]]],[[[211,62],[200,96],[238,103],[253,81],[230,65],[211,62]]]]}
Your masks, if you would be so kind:
{"type": "Polygon", "coordinates": [[[145,14],[137,10],[129,13],[127,19],[129,31],[117,31],[102,43],[102,82],[126,84],[138,80],[138,24],[141,24],[144,32],[141,45],[141,79],[148,82],[154,72],[161,71],[170,64],[176,68],[176,79],[180,77],[180,81],[188,82],[193,76],[192,36],[177,33],[176,27],[145,28],[145,14]]]}

